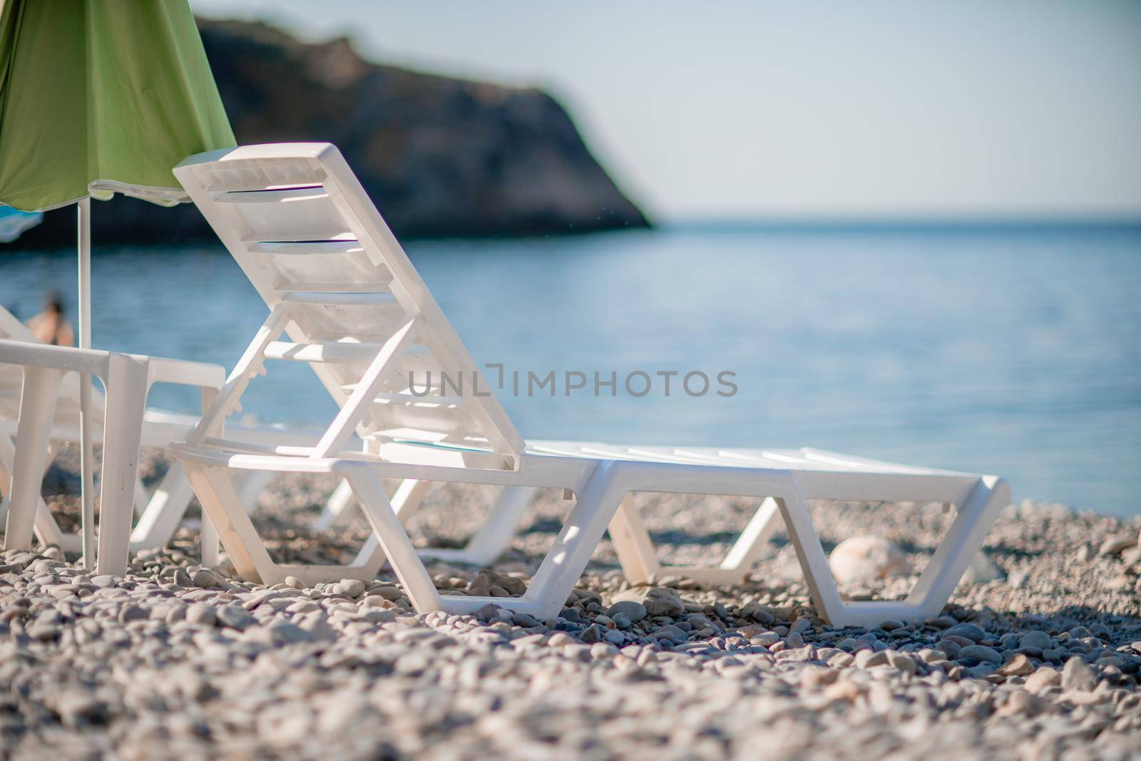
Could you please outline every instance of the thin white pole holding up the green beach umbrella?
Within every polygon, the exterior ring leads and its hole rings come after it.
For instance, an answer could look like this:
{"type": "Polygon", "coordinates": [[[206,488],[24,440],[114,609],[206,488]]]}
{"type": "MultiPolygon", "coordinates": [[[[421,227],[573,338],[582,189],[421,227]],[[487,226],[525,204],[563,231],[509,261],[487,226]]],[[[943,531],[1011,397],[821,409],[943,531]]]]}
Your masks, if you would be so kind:
{"type": "MultiPolygon", "coordinates": [[[[91,348],[91,199],[83,199],[76,205],[79,222],[79,346],[91,348]]],[[[83,531],[83,567],[95,568],[95,483],[92,479],[91,452],[91,375],[79,377],[79,469],[82,485],[81,525],[83,531]]]]}

